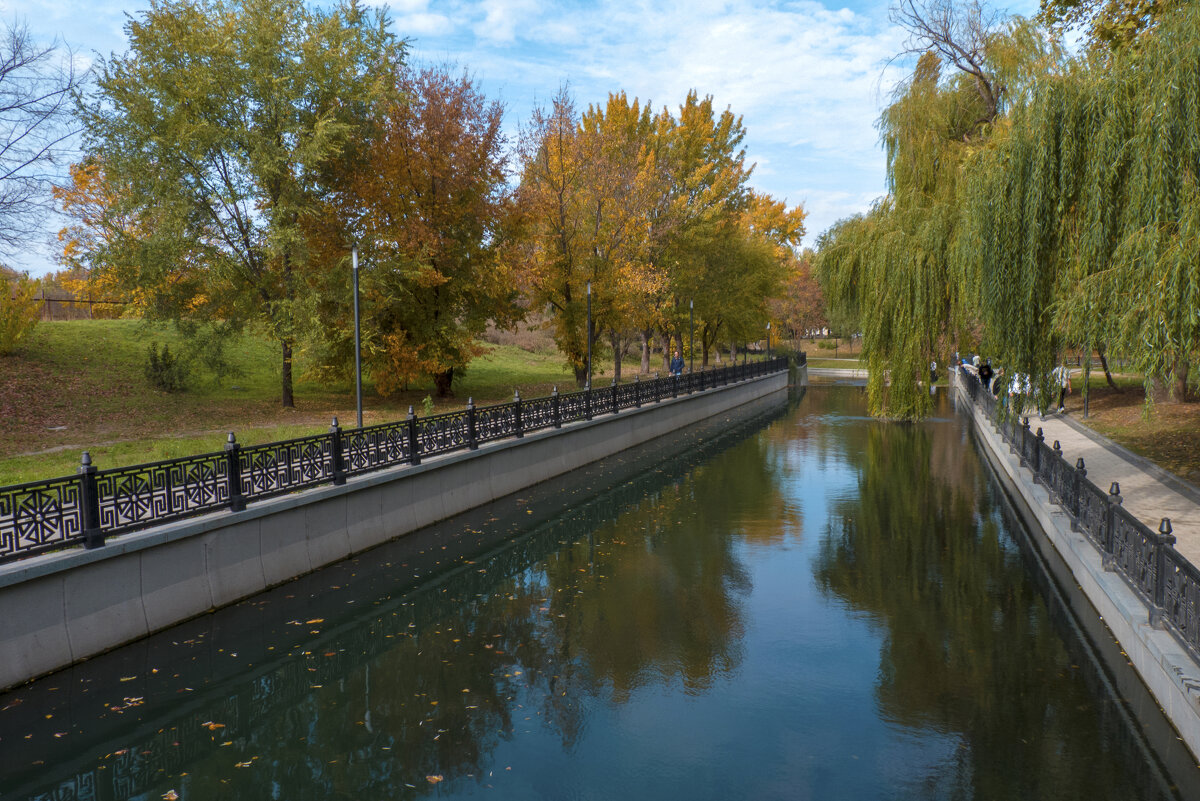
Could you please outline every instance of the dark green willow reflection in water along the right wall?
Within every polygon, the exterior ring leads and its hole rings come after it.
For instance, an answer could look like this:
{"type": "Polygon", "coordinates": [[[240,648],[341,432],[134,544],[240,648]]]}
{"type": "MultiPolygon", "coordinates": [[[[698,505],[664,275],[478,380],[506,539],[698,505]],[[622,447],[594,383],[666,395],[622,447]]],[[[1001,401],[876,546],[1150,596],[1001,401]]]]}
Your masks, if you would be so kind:
{"type": "Polygon", "coordinates": [[[1081,680],[964,434],[958,421],[860,427],[862,447],[845,450],[858,492],[836,505],[815,565],[821,586],[877,622],[881,715],[959,740],[913,793],[1174,797],[1156,765],[1130,770],[1136,739],[1081,680]]]}

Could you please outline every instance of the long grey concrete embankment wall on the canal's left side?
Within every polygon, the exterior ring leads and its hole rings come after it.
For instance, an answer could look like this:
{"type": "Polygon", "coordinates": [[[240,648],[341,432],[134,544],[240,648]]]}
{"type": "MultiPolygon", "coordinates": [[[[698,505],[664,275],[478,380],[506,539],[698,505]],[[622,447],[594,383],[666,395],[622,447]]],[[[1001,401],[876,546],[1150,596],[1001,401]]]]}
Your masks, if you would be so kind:
{"type": "Polygon", "coordinates": [[[743,404],[787,373],[431,457],[0,567],[0,688],[223,607],[743,404]]]}

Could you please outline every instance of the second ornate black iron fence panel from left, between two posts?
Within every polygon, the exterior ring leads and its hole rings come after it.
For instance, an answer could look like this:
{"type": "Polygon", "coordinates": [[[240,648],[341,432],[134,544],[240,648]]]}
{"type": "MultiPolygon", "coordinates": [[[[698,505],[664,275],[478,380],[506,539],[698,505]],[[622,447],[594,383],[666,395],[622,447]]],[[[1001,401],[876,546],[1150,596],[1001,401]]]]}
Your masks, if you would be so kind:
{"type": "Polygon", "coordinates": [[[229,504],[229,460],[224,453],[205,453],[101,470],[96,496],[106,534],[203,514],[229,504]]]}

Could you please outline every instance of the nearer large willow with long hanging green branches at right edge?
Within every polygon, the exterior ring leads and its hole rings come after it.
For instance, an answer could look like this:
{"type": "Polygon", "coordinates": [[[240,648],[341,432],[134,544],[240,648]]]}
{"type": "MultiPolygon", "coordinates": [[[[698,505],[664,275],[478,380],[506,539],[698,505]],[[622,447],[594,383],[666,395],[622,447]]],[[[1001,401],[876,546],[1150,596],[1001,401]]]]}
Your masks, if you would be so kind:
{"type": "Polygon", "coordinates": [[[1014,356],[1036,366],[1037,339],[1056,335],[1087,351],[1109,344],[1184,397],[1200,361],[1196,130],[1194,6],[1136,48],[1042,82],[977,164],[964,212],[982,305],[1014,356]]]}

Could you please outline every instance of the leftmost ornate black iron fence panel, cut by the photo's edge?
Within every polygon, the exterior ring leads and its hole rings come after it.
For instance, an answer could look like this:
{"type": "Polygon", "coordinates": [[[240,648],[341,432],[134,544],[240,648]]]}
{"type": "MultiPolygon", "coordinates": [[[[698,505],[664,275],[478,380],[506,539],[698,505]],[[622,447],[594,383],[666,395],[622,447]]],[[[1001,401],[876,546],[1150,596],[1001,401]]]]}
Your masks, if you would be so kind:
{"type": "Polygon", "coordinates": [[[0,489],[0,561],[83,540],[83,504],[76,476],[0,489]]]}

